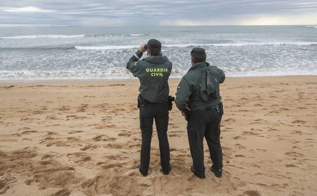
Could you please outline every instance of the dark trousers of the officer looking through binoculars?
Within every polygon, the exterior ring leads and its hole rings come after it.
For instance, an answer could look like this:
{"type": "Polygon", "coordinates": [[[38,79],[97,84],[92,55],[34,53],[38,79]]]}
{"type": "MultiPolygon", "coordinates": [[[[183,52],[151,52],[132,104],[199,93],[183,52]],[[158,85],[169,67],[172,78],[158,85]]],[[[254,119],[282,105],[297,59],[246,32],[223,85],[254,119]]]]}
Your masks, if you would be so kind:
{"type": "Polygon", "coordinates": [[[140,107],[140,128],[142,133],[142,145],[140,153],[139,169],[142,173],[148,173],[150,165],[151,139],[153,132],[153,120],[159,139],[160,158],[163,172],[169,171],[169,144],[167,139],[168,108],[165,103],[148,103],[140,107]]]}

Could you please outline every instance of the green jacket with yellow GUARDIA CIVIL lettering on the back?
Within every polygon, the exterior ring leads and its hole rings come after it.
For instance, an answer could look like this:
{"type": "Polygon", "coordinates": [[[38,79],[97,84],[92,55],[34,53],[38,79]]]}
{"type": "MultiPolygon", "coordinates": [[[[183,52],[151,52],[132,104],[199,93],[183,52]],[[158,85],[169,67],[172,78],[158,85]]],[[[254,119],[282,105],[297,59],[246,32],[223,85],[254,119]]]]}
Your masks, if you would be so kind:
{"type": "Polygon", "coordinates": [[[127,69],[140,80],[139,92],[152,103],[167,101],[169,94],[168,77],[172,64],[162,55],[142,59],[142,52],[137,50],[127,63],[127,69]]]}

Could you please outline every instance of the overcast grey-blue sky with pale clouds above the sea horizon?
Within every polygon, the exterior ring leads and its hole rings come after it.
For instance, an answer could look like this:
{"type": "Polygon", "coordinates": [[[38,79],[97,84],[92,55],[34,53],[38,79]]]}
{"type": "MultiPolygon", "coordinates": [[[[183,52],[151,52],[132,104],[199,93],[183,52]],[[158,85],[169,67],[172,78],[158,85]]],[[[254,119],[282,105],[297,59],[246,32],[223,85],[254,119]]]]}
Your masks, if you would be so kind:
{"type": "Polygon", "coordinates": [[[0,26],[317,24],[317,0],[1,0],[0,26]]]}

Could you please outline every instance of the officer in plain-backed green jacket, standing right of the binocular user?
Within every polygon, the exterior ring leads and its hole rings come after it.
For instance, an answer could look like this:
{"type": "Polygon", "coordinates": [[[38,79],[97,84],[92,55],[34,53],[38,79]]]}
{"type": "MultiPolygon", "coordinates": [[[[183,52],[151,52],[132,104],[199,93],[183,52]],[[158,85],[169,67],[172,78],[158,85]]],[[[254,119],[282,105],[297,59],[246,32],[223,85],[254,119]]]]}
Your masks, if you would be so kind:
{"type": "Polygon", "coordinates": [[[220,121],[223,107],[219,83],[225,79],[222,70],[206,62],[203,48],[193,48],[191,64],[183,76],[176,93],[176,106],[187,117],[187,133],[193,165],[191,171],[200,179],[205,178],[204,136],[210,157],[211,171],[216,177],[222,173],[222,150],[220,145],[220,121]]]}

